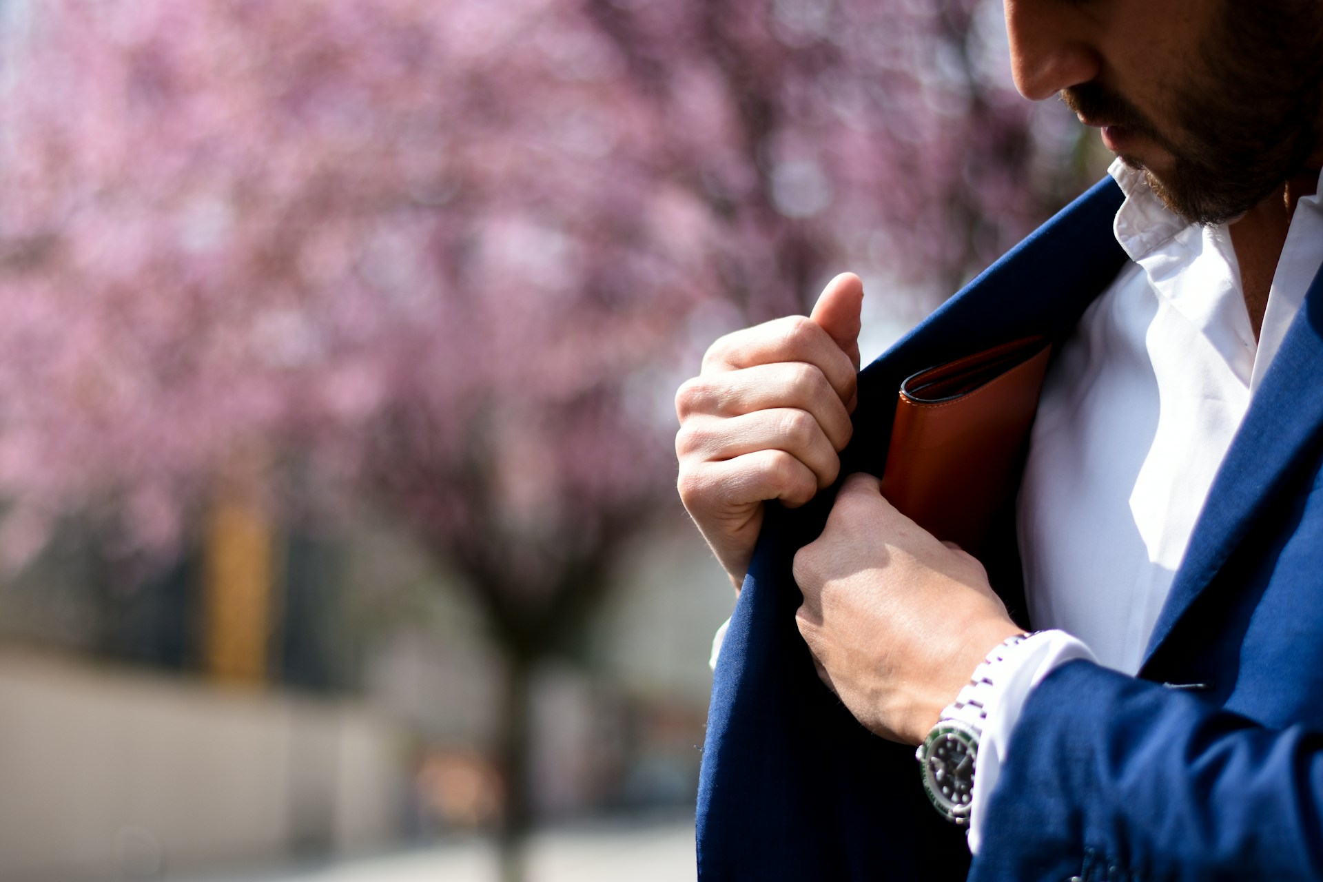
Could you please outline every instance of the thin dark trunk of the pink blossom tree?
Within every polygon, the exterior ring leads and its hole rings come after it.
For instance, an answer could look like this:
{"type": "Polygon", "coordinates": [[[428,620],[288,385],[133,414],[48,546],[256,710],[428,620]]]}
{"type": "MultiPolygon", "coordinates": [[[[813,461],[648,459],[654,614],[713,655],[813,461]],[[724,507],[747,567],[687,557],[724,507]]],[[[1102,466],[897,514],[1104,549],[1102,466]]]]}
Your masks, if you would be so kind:
{"type": "Polygon", "coordinates": [[[501,882],[524,882],[525,850],[532,825],[532,783],[529,782],[531,697],[533,657],[505,647],[505,681],[500,706],[501,775],[505,800],[497,832],[501,882]]]}

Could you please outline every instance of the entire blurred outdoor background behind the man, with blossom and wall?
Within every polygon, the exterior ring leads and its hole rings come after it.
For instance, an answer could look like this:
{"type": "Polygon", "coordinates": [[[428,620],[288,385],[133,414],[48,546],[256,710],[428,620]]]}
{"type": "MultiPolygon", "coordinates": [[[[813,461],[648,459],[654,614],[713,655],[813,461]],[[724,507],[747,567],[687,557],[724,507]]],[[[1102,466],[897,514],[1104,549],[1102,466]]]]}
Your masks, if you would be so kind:
{"type": "Polygon", "coordinates": [[[0,0],[0,879],[684,879],[720,335],[1102,175],[994,0],[0,0]]]}

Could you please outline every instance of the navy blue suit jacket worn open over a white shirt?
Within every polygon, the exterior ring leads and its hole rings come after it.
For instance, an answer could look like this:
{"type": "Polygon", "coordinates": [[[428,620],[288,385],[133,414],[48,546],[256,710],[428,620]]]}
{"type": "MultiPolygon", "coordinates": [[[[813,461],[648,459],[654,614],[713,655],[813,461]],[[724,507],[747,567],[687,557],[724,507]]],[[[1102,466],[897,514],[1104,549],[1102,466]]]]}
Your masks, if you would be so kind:
{"type": "MultiPolygon", "coordinates": [[[[881,473],[904,377],[1069,335],[1126,261],[1111,233],[1121,201],[1098,184],[869,365],[841,473],[881,473]]],[[[1076,661],[1035,689],[972,869],[963,832],[923,796],[913,747],[849,715],[795,627],[791,559],[833,495],[769,506],[713,682],[700,878],[1323,878],[1320,279],[1217,473],[1139,676],[1076,661]]],[[[1012,521],[984,563],[1032,625],[1012,521]]]]}

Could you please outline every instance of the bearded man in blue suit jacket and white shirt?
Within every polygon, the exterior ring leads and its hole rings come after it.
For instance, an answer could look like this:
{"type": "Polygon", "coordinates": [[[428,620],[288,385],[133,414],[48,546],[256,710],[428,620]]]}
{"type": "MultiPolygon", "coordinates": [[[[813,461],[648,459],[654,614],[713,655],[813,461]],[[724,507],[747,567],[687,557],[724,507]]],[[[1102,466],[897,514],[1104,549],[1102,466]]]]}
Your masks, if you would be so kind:
{"type": "Polygon", "coordinates": [[[1005,0],[1005,16],[1017,89],[1101,127],[1117,184],[857,382],[845,275],[810,317],[717,341],[677,394],[681,497],[744,584],[700,874],[960,878],[967,856],[918,816],[919,772],[909,759],[906,783],[888,743],[954,726],[976,752],[921,756],[972,782],[945,807],[970,826],[971,878],[1323,878],[1323,7],[1005,0]],[[875,475],[898,378],[1024,332],[1057,354],[1020,559],[983,561],[999,596],[875,475]],[[799,678],[790,610],[872,735],[799,678]]]}

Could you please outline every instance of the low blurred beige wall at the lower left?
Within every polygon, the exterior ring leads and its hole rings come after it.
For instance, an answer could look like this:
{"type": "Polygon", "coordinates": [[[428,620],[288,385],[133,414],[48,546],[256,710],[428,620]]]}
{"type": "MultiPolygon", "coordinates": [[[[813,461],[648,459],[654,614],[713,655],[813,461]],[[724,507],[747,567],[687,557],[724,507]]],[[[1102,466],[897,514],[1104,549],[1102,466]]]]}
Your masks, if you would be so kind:
{"type": "Polygon", "coordinates": [[[366,709],[0,652],[0,879],[382,845],[404,756],[366,709]]]}

